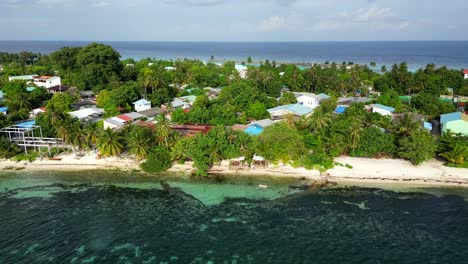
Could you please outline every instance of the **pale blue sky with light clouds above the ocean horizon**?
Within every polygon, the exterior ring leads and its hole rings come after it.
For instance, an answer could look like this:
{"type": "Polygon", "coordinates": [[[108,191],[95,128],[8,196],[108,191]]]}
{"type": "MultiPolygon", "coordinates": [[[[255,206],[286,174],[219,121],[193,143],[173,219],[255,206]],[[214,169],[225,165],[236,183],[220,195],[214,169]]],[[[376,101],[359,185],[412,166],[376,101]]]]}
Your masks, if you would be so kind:
{"type": "Polygon", "coordinates": [[[468,40],[466,0],[0,0],[1,40],[468,40]]]}

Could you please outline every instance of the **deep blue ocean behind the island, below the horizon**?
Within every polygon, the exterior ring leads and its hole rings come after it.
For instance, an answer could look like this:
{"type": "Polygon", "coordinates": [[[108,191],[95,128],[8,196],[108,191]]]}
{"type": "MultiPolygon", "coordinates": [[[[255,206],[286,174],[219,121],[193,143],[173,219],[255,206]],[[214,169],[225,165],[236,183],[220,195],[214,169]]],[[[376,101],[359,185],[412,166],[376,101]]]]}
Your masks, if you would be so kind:
{"type": "MultiPolygon", "coordinates": [[[[64,46],[83,46],[87,41],[0,41],[0,51],[50,53],[64,46]]],[[[113,42],[122,58],[196,58],[276,60],[279,62],[323,63],[352,61],[390,66],[407,62],[410,69],[428,63],[454,69],[468,68],[468,41],[399,42],[113,42]]]]}

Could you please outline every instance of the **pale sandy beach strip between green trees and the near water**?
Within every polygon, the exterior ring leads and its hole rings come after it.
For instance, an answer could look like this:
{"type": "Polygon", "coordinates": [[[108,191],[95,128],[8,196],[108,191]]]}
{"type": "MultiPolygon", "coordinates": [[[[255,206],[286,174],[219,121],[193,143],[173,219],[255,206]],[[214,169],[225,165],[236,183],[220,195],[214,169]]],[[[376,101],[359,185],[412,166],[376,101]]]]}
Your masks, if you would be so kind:
{"type": "MultiPolygon", "coordinates": [[[[141,171],[139,162],[131,158],[96,159],[95,154],[88,153],[83,157],[73,154],[60,155],[62,160],[0,161],[0,170],[4,172],[44,172],[44,171],[141,171]]],[[[329,181],[337,184],[371,184],[385,188],[389,185],[408,187],[465,187],[468,188],[468,169],[443,166],[437,160],[430,160],[420,166],[399,159],[369,159],[338,157],[335,159],[343,165],[352,168],[336,166],[326,173],[305,168],[293,168],[290,165],[269,165],[266,167],[247,166],[231,169],[227,161],[213,166],[210,175],[229,176],[269,176],[291,178],[305,181],[329,181]]],[[[165,174],[190,176],[193,172],[192,163],[174,164],[165,174]]]]}

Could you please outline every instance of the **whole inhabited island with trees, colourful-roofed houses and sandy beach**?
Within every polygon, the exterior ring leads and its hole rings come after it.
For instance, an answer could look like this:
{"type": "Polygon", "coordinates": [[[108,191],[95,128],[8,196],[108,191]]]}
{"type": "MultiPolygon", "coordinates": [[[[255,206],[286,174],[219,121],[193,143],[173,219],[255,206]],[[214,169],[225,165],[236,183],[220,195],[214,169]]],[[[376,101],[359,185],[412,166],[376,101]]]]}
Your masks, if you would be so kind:
{"type": "Polygon", "coordinates": [[[468,186],[468,71],[376,67],[0,52],[0,166],[468,186]]]}

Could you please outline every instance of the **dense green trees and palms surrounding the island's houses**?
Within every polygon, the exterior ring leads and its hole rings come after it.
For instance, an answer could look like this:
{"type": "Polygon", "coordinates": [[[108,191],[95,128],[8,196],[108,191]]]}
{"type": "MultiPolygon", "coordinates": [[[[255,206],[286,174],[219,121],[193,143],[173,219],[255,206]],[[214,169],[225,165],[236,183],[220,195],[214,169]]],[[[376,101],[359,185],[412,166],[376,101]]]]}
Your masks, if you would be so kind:
{"type": "MultiPolygon", "coordinates": [[[[468,96],[468,82],[459,70],[433,64],[416,72],[408,71],[405,63],[375,72],[367,65],[352,63],[316,64],[300,69],[265,61],[256,67],[248,66],[245,78],[241,78],[234,62],[219,66],[198,60],[120,60],[112,47],[97,43],[64,47],[50,55],[0,53],[0,64],[4,65],[0,87],[9,108],[8,117],[0,115],[2,127],[27,118],[34,108],[46,106],[46,113],[36,121],[45,136],[60,137],[76,150],[97,148],[102,156],[127,152],[140,160],[148,158],[142,165],[147,171],[167,168],[169,153],[173,161],[194,161],[199,175],[206,174],[221,160],[245,156],[250,161],[254,154],[269,162],[321,170],[331,168],[333,158],[342,154],[400,157],[414,164],[437,156],[453,166],[467,166],[466,137],[446,134],[436,138],[421,129],[410,114],[392,123],[365,111],[362,104],[352,105],[342,115],[333,113],[335,98],[355,95],[375,97],[376,102],[395,107],[397,112],[420,113],[429,119],[456,111],[453,103],[441,101],[440,95],[468,96]],[[28,92],[23,82],[8,82],[8,76],[22,74],[58,74],[63,84],[77,89],[51,96],[43,88],[28,92]],[[222,89],[216,99],[210,100],[205,87],[222,89]],[[449,87],[453,94],[447,90],[449,87]],[[258,137],[226,128],[267,118],[268,108],[295,103],[294,95],[282,93],[282,88],[327,93],[332,99],[312,116],[286,118],[258,137]],[[141,97],[159,106],[176,96],[195,95],[193,108],[189,112],[173,111],[172,122],[211,124],[216,128],[206,135],[180,138],[171,131],[169,121],[160,117],[154,129],[128,126],[117,132],[103,131],[98,124],[81,124],[67,114],[79,100],[80,90],[94,91],[106,116],[132,111],[132,102],[141,97]],[[401,95],[412,98],[402,102],[401,95]]],[[[6,146],[0,144],[5,153],[2,156],[16,153],[6,146]]]]}

